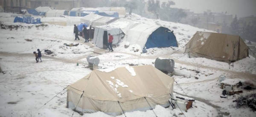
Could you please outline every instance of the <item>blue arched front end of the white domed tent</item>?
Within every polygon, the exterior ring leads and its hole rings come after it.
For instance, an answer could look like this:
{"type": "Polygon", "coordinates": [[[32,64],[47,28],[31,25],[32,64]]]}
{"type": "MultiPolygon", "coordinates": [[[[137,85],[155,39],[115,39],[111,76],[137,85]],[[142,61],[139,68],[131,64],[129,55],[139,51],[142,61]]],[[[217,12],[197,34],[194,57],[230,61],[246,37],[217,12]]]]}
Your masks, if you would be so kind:
{"type": "Polygon", "coordinates": [[[145,47],[178,47],[174,33],[166,31],[170,30],[164,27],[157,28],[157,30],[151,33],[151,35],[148,37],[145,47]]]}

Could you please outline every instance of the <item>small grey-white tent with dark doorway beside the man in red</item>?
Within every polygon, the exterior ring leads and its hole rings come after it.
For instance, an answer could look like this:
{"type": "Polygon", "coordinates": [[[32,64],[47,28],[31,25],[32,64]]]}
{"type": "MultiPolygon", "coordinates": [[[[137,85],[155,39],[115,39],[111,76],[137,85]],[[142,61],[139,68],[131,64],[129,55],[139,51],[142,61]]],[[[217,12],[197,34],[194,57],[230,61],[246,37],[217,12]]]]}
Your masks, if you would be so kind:
{"type": "Polygon", "coordinates": [[[95,27],[93,44],[95,44],[99,48],[105,48],[104,45],[107,46],[108,44],[108,33],[110,33],[114,38],[112,45],[117,46],[123,35],[122,30],[120,28],[115,28],[107,25],[95,27]]]}

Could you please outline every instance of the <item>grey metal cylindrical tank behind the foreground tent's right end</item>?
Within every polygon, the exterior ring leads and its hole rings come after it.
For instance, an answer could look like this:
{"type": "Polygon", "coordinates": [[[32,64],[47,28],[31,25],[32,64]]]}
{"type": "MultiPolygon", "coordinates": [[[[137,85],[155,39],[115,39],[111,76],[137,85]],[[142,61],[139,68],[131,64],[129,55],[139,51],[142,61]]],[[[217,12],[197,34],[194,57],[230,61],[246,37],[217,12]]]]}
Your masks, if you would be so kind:
{"type": "Polygon", "coordinates": [[[166,71],[166,72],[173,72],[174,70],[174,60],[172,60],[171,58],[160,58],[158,57],[155,61],[155,67],[158,70],[161,71],[166,71]]]}

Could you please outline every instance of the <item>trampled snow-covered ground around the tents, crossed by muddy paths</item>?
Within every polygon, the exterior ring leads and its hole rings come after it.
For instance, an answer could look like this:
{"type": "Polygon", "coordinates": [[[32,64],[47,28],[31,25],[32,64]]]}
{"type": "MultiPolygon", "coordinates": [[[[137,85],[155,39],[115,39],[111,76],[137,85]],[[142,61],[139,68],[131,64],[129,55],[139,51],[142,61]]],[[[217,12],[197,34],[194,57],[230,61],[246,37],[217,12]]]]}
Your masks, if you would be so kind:
{"type": "MultiPolygon", "coordinates": [[[[38,26],[23,23],[8,22],[10,14],[0,13],[0,21],[4,25],[20,25],[22,28],[0,29],[0,117],[71,117],[72,109],[66,108],[67,93],[62,91],[67,85],[76,82],[91,72],[87,66],[86,57],[96,56],[100,59],[99,68],[123,67],[151,64],[157,57],[175,60],[174,91],[177,95],[188,95],[195,98],[193,108],[186,117],[256,117],[248,108],[235,109],[233,100],[239,95],[220,98],[222,89],[218,86],[218,77],[225,75],[227,79],[256,84],[256,60],[244,58],[236,61],[233,66],[224,62],[206,58],[188,58],[183,56],[182,47],[196,31],[204,31],[173,22],[151,20],[143,17],[128,16],[145,24],[161,25],[174,30],[179,47],[150,48],[147,53],[134,52],[137,48],[125,48],[125,42],[114,48],[114,52],[95,47],[90,43],[74,41],[73,26],[47,25],[38,26]],[[31,39],[32,42],[25,39],[31,39]],[[183,40],[184,39],[184,40],[183,40]],[[181,41],[182,40],[182,41],[181,41]],[[79,44],[69,47],[64,44],[79,44]],[[32,54],[37,49],[42,51],[42,61],[35,63],[32,54]],[[180,49],[180,50],[179,50],[180,49]],[[47,55],[44,50],[53,53],[47,55]],[[178,51],[177,51],[178,50],[178,51]],[[176,53],[174,53],[177,51],[176,53]],[[97,54],[98,53],[98,54],[97,54]],[[100,53],[100,54],[99,54],[100,53]],[[172,54],[174,53],[174,54],[172,54]],[[170,55],[172,54],[172,55],[170,55]],[[79,66],[76,64],[79,63],[79,66]],[[196,72],[198,71],[198,72],[196,72]],[[181,88],[183,90],[181,90],[181,88]],[[61,92],[62,91],[62,92],[61,92]],[[186,94],[184,92],[186,92],[186,94]],[[59,94],[57,97],[52,97],[59,94]],[[45,106],[44,103],[47,103],[45,106]],[[41,109],[39,109],[43,106],[41,109]],[[39,110],[38,110],[39,109],[39,110]]],[[[10,18],[9,18],[10,19],[10,18]]],[[[241,95],[255,93],[255,90],[241,95]]],[[[156,106],[157,117],[184,117],[179,109],[156,106]]],[[[153,111],[134,111],[125,113],[127,117],[155,117],[153,111]]],[[[103,112],[84,114],[75,112],[74,117],[111,117],[103,112]]],[[[124,114],[118,117],[125,117],[124,114]]]]}

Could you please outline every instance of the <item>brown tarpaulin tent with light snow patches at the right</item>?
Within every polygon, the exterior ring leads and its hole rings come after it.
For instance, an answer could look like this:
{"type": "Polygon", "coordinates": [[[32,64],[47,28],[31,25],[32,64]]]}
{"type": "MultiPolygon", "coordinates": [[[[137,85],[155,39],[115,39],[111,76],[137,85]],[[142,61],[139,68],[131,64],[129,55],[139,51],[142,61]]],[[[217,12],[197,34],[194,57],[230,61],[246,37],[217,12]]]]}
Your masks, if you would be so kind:
{"type": "Polygon", "coordinates": [[[240,36],[198,31],[187,43],[185,53],[231,63],[246,58],[248,49],[240,36]]]}

